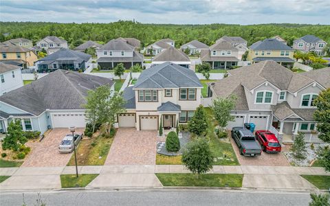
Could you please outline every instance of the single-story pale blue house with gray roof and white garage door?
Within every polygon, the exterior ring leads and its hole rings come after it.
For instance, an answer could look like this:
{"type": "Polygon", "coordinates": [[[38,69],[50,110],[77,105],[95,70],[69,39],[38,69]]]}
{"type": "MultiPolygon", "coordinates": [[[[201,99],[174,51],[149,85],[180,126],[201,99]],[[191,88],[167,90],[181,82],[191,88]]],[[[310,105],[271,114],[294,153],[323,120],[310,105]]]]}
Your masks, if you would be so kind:
{"type": "MultiPolygon", "coordinates": [[[[0,96],[0,126],[21,119],[23,130],[85,127],[87,92],[113,81],[109,78],[58,69],[0,96]]],[[[113,87],[112,87],[113,88],[113,87]]]]}

